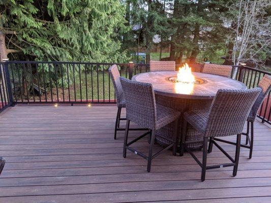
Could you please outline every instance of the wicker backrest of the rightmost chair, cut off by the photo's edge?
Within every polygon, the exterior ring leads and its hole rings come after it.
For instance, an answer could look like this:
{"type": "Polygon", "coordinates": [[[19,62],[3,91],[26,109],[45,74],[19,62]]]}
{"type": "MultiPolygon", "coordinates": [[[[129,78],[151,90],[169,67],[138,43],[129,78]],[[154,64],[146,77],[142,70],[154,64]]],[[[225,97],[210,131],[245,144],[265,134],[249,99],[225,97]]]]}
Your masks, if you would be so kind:
{"type": "Polygon", "coordinates": [[[260,80],[258,87],[261,88],[261,92],[259,96],[257,97],[250,111],[250,116],[253,118],[253,121],[255,120],[257,116],[258,109],[260,108],[265,96],[271,90],[271,75],[264,75],[263,78],[260,80]]]}

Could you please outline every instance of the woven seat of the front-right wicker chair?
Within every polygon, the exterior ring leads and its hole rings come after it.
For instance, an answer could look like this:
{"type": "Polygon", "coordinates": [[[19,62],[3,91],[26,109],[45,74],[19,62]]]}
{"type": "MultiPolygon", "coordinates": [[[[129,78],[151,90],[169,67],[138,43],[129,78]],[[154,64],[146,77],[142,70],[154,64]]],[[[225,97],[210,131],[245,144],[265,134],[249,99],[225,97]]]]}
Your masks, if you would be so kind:
{"type": "Polygon", "coordinates": [[[187,120],[196,130],[201,133],[205,132],[209,110],[194,110],[184,113],[184,119],[187,120]]]}

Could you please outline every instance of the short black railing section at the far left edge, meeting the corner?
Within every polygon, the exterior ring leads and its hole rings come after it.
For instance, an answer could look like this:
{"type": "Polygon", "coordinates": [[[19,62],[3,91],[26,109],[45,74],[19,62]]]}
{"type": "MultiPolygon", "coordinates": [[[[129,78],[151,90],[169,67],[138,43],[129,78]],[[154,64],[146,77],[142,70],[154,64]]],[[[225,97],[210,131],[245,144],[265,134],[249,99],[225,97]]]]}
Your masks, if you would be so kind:
{"type": "Polygon", "coordinates": [[[12,105],[9,71],[5,62],[0,63],[0,112],[12,105]]]}

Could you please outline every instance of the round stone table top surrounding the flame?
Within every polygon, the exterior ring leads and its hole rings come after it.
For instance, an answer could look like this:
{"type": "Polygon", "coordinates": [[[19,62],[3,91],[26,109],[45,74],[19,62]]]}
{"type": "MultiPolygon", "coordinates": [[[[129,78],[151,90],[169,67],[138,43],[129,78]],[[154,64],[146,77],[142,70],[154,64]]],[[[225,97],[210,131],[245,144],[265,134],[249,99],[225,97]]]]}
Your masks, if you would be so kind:
{"type": "Polygon", "coordinates": [[[168,78],[175,77],[177,71],[141,73],[133,76],[132,80],[151,83],[155,93],[178,98],[212,99],[219,89],[247,89],[244,83],[227,77],[196,72],[192,74],[204,82],[187,84],[169,81],[168,78]]]}

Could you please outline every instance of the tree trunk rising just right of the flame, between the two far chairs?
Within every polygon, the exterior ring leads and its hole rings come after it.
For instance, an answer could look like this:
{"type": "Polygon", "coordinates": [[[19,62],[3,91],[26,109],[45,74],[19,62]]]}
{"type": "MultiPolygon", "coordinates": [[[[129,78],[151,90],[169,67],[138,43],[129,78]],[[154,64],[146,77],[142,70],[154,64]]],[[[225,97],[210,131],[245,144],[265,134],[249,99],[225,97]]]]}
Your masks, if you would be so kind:
{"type": "MultiPolygon", "coordinates": [[[[202,11],[202,0],[198,1],[197,5],[197,13],[199,14],[202,11]]],[[[191,56],[189,58],[189,63],[194,64],[196,62],[196,57],[198,55],[199,47],[198,47],[198,41],[199,41],[199,24],[195,24],[195,29],[194,29],[194,39],[193,39],[193,44],[194,44],[194,49],[191,52],[191,56]]]]}

